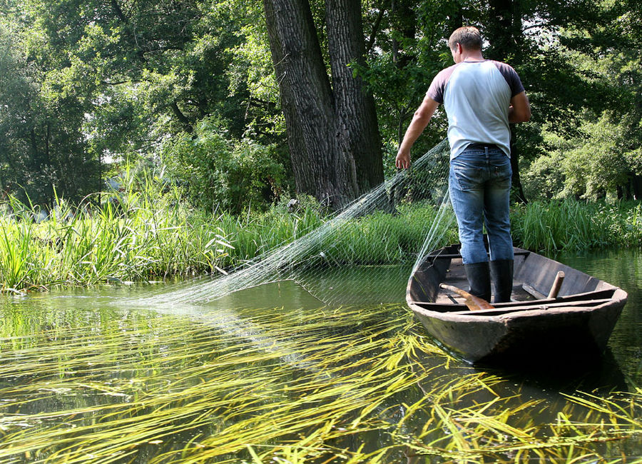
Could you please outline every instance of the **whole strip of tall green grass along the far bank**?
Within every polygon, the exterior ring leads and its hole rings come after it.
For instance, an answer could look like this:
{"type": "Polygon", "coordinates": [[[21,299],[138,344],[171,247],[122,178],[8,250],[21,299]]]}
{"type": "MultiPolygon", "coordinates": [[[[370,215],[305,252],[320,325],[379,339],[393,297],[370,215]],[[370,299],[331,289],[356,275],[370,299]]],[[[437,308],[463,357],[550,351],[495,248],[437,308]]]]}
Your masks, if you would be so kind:
{"type": "MultiPolygon", "coordinates": [[[[79,206],[58,199],[46,221],[39,208],[15,198],[0,214],[0,291],[42,286],[184,278],[224,273],[304,236],[327,219],[308,201],[241,216],[191,208],[180,190],[150,171],[126,171],[121,192],[86,198],[79,206]],[[101,204],[96,201],[101,198],[101,204]]],[[[317,243],[332,262],[355,265],[412,263],[437,210],[403,204],[394,213],[354,218],[317,243]]],[[[584,250],[642,243],[639,202],[533,202],[512,211],[514,242],[534,251],[584,250]]],[[[441,242],[457,241],[442,225],[441,242]]]]}

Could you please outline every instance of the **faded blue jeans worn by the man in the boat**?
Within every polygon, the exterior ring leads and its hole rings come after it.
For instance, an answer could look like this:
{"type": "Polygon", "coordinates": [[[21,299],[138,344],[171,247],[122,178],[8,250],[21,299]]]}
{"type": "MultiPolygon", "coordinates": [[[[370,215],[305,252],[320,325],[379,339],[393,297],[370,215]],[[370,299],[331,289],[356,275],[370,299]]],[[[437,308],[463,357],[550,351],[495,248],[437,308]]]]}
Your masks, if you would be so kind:
{"type": "Polygon", "coordinates": [[[457,216],[464,264],[513,259],[510,223],[511,160],[499,148],[466,148],[450,161],[450,201],[457,216]]]}

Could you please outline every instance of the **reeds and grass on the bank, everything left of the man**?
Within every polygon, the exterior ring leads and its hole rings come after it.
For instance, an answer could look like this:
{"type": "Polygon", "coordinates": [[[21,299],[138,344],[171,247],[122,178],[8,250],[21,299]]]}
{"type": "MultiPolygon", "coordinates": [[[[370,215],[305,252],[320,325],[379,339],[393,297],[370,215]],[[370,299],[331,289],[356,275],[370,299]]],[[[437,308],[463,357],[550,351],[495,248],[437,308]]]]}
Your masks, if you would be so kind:
{"type": "MultiPolygon", "coordinates": [[[[34,222],[35,208],[14,200],[13,213],[0,216],[3,291],[225,272],[305,236],[326,220],[315,207],[213,216],[193,211],[175,191],[102,196],[101,206],[86,201],[72,207],[58,200],[54,213],[39,223],[34,222]]],[[[413,248],[420,246],[432,218],[430,206],[374,213],[342,224],[340,234],[318,245],[334,249],[342,264],[412,262],[413,248]]]]}

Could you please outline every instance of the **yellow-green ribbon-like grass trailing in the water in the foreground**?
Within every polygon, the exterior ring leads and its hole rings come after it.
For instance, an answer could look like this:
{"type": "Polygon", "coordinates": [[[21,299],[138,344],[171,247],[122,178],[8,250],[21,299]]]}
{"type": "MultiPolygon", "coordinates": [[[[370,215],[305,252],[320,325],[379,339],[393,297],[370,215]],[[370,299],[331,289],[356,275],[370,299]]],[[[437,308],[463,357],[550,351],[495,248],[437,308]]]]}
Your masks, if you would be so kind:
{"type": "Polygon", "coordinates": [[[399,306],[34,324],[0,337],[1,462],[631,462],[642,449],[641,390],[534,400],[449,358],[399,306]]]}

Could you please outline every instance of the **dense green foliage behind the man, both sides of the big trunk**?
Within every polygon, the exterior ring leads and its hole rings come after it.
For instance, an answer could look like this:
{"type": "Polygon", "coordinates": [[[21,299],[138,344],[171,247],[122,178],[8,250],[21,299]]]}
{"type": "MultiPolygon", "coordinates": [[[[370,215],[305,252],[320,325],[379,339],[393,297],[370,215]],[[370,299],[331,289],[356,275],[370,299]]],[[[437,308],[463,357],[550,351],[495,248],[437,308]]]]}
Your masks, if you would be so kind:
{"type": "MultiPolygon", "coordinates": [[[[388,174],[429,81],[451,63],[445,37],[474,24],[486,56],[519,71],[533,106],[531,123],[515,128],[520,195],[641,198],[636,1],[361,6],[366,59],[350,66],[374,95],[388,174]]],[[[333,24],[323,2],[310,9],[325,51],[333,24]]],[[[0,76],[5,196],[46,208],[56,194],[77,202],[140,158],[164,164],[165,178],[208,209],[265,209],[294,194],[260,3],[3,0],[0,76]]],[[[417,153],[443,137],[441,114],[417,153]]]]}

